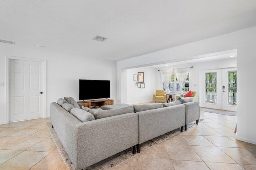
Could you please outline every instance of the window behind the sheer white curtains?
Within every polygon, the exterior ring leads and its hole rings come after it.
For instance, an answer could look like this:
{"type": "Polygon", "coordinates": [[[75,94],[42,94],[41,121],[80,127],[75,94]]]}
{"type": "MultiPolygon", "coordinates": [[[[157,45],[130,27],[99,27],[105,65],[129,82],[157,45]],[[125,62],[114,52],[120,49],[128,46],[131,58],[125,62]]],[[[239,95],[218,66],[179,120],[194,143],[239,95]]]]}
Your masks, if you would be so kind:
{"type": "MultiPolygon", "coordinates": [[[[164,84],[163,82],[163,89],[166,90],[166,85],[164,84]]],[[[172,74],[172,78],[170,80],[170,85],[169,85],[169,88],[170,88],[170,91],[172,92],[180,92],[180,84],[178,83],[178,79],[176,77],[175,74],[172,74]]],[[[188,73],[188,76],[187,76],[187,79],[186,79],[186,82],[182,88],[182,90],[184,92],[187,92],[189,91],[189,73],[188,73]]]]}

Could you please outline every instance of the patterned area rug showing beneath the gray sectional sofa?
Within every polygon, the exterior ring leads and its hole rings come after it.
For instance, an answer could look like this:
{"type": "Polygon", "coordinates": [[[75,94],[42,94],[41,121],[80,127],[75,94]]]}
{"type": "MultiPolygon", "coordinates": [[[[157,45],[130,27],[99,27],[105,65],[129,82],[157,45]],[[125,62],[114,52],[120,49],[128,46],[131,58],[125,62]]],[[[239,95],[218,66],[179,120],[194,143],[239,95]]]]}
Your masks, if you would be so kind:
{"type": "MultiPolygon", "coordinates": [[[[202,121],[203,119],[200,119],[200,121],[202,121]]],[[[76,168],[74,167],[74,165],[72,164],[66,150],[64,149],[62,143],[60,142],[60,139],[58,138],[57,133],[55,132],[54,128],[52,128],[52,124],[50,122],[46,123],[48,126],[48,129],[52,135],[52,138],[54,139],[54,142],[56,143],[56,146],[58,147],[60,154],[64,160],[64,162],[66,163],[66,165],[68,166],[69,170],[76,170],[76,168]]],[[[192,123],[188,124],[188,128],[192,127],[193,125],[196,125],[195,121],[192,123]]],[[[180,128],[175,129],[173,131],[170,131],[168,133],[165,133],[164,135],[161,135],[159,137],[156,137],[152,140],[146,141],[144,143],[141,144],[141,151],[146,150],[150,147],[152,147],[153,145],[156,145],[157,143],[160,143],[162,141],[164,141],[165,139],[168,139],[172,136],[177,135],[180,132],[180,128]]],[[[136,152],[136,154],[138,154],[136,152]]],[[[132,148],[123,150],[122,152],[119,152],[113,156],[110,156],[109,158],[106,158],[96,164],[93,164],[91,166],[88,166],[87,168],[85,168],[84,170],[108,170],[122,162],[124,162],[125,160],[131,158],[132,156],[136,155],[132,153],[132,148]]]]}

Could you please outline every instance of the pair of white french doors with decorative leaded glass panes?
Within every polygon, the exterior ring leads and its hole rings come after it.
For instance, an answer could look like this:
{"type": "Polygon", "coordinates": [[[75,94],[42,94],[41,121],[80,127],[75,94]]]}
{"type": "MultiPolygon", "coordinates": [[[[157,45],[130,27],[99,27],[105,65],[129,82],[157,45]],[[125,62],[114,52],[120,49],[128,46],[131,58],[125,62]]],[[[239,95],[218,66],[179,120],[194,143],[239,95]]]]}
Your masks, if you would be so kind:
{"type": "Polygon", "coordinates": [[[202,107],[236,111],[236,68],[201,70],[202,107]]]}

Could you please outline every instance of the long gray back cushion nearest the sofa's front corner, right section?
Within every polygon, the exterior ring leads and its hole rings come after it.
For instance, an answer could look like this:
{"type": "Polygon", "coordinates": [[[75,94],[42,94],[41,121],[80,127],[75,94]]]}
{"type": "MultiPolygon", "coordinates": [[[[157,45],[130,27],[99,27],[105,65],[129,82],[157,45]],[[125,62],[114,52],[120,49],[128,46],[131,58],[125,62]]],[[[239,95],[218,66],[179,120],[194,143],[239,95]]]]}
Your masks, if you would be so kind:
{"type": "Polygon", "coordinates": [[[134,112],[133,106],[127,106],[127,107],[120,108],[120,109],[94,111],[92,114],[94,115],[95,119],[101,119],[101,118],[105,118],[105,117],[122,115],[125,113],[132,113],[132,112],[134,112]]]}

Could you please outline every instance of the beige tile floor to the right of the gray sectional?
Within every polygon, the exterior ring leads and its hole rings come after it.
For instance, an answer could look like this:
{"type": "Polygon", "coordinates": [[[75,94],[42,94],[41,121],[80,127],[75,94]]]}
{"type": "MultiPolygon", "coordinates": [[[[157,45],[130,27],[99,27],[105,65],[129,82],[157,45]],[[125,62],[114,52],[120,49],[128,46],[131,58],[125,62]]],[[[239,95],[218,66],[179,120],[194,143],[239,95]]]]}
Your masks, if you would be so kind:
{"type": "Polygon", "coordinates": [[[201,119],[111,170],[256,170],[256,145],[236,140],[235,116],[201,111],[201,119]]]}

